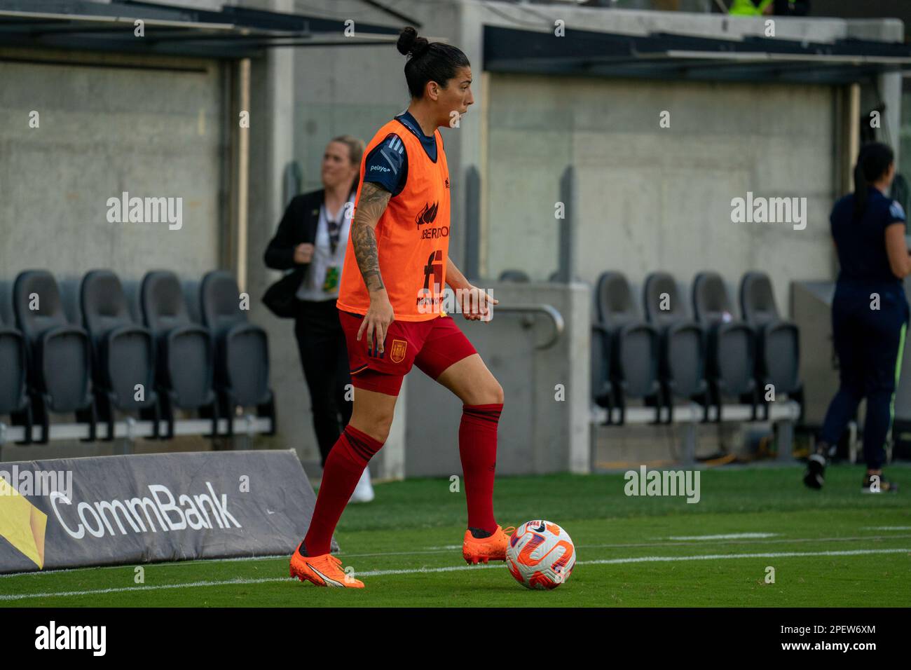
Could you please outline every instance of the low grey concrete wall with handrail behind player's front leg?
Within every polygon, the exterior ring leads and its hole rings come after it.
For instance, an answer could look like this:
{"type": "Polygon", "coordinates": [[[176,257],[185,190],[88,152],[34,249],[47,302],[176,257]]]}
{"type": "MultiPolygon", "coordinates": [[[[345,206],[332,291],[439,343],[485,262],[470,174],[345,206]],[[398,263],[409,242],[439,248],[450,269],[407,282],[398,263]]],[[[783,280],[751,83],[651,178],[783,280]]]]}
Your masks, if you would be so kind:
{"type": "MultiPolygon", "coordinates": [[[[497,430],[496,471],[501,475],[589,471],[589,331],[591,296],[585,284],[490,283],[499,304],[490,323],[454,314],[487,368],[503,387],[497,430]],[[563,320],[545,314],[507,312],[507,306],[550,305],[563,320]]],[[[408,383],[404,474],[459,474],[458,429],[462,404],[419,370],[408,383]]],[[[401,401],[400,401],[401,404],[401,401]]]]}

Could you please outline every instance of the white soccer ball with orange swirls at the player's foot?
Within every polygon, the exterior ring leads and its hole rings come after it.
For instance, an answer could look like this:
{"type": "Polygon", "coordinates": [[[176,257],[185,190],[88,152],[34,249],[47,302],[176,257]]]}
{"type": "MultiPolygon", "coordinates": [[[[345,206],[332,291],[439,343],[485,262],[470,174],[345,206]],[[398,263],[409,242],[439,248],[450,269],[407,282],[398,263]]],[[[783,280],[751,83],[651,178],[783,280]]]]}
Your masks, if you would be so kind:
{"type": "Polygon", "coordinates": [[[576,548],[564,531],[550,521],[526,521],[509,538],[507,568],[529,589],[556,589],[576,565],[576,548]]]}

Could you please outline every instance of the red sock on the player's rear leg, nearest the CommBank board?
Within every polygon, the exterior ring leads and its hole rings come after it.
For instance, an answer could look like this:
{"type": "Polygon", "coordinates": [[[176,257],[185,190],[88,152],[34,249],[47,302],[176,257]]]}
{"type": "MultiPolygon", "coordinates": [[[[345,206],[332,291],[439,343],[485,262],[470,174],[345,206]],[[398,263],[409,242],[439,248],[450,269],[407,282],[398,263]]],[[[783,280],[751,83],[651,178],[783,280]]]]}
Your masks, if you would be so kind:
{"type": "Polygon", "coordinates": [[[329,553],[333,531],[342,517],[345,505],[351,500],[363,469],[381,447],[383,442],[376,441],[351,425],[345,426],[322,469],[322,484],[316,496],[316,507],[313,509],[310,529],[303,539],[309,556],[329,553]]]}

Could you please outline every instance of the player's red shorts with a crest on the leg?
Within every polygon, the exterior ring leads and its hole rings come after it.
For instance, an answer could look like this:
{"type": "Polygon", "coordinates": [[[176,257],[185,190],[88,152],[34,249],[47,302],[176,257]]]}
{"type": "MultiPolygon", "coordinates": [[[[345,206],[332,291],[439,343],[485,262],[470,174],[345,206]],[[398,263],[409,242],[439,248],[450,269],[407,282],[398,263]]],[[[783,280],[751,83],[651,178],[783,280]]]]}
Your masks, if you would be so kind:
{"type": "Polygon", "coordinates": [[[398,396],[402,379],[412,365],[436,379],[453,363],[477,353],[452,316],[428,321],[393,321],[386,333],[383,354],[377,354],[375,346],[367,353],[366,328],[361,341],[357,341],[363,315],[339,310],[339,321],[348,345],[353,386],[387,396],[398,396]]]}

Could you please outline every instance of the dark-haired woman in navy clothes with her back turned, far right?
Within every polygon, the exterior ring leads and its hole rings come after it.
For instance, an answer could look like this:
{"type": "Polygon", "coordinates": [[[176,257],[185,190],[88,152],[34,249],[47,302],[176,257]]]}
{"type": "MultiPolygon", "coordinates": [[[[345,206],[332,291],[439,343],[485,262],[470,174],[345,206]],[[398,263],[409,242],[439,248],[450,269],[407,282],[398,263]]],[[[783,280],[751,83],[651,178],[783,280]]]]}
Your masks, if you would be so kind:
{"type": "Polygon", "coordinates": [[[896,490],[882,474],[908,321],[902,279],[911,274],[911,257],[905,211],[885,195],[895,175],[892,149],[866,144],[857,158],[855,192],[837,201],[830,217],[841,265],[832,303],[841,379],[804,474],[804,484],[812,489],[823,487],[826,456],[866,397],[861,490],[896,490]]]}

